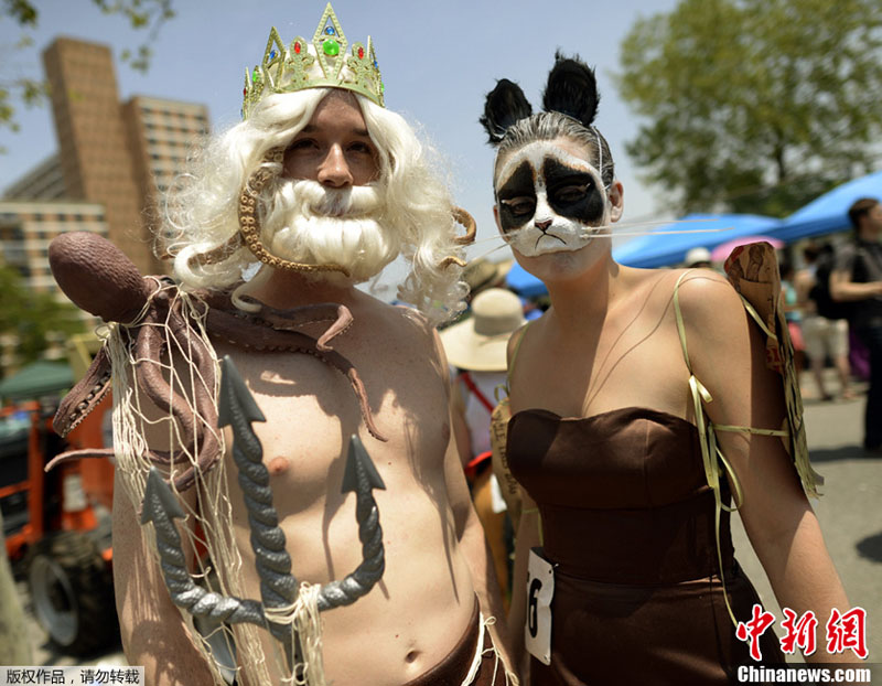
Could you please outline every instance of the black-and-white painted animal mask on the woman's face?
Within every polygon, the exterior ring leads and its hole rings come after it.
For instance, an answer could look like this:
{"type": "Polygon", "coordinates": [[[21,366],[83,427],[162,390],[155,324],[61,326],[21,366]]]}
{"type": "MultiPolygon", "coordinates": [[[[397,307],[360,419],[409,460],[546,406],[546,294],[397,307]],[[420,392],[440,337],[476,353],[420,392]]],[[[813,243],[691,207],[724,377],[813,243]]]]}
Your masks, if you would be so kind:
{"type": "Polygon", "coordinates": [[[503,165],[496,183],[503,237],[527,257],[578,250],[592,227],[610,222],[600,173],[550,141],[525,146],[503,165]]]}

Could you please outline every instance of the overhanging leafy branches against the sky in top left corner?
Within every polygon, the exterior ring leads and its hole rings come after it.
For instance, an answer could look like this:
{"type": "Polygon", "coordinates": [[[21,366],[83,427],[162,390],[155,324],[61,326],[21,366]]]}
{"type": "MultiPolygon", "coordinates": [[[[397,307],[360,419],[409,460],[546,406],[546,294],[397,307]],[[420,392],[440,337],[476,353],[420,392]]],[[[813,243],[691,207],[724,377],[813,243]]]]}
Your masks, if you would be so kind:
{"type": "MultiPolygon", "coordinates": [[[[174,17],[173,0],[92,0],[104,14],[121,14],[136,30],[148,32],[148,39],[135,50],[123,50],[122,62],[133,69],[146,72],[150,66],[152,52],[150,44],[155,40],[162,24],[174,17]]],[[[9,53],[14,53],[32,44],[26,34],[36,28],[40,21],[37,2],[31,0],[0,0],[0,23],[12,21],[23,31],[14,45],[2,45],[3,62],[7,68],[0,69],[0,127],[18,130],[18,107],[40,105],[47,95],[47,84],[42,78],[26,74],[13,74],[8,68],[13,61],[9,53]]],[[[0,149],[2,152],[2,149],[0,149]]]]}

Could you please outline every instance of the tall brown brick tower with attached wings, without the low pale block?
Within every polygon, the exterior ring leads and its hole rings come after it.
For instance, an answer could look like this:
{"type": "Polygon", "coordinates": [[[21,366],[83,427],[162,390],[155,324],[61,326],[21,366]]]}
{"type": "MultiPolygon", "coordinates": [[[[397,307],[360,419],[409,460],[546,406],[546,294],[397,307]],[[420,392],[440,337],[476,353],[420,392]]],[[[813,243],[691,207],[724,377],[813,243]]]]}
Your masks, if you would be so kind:
{"type": "Polygon", "coordinates": [[[58,152],[10,185],[4,199],[98,203],[109,239],[141,272],[164,271],[151,231],[159,197],[207,133],[207,108],[143,96],[120,103],[106,45],[60,37],[43,63],[58,152]]]}

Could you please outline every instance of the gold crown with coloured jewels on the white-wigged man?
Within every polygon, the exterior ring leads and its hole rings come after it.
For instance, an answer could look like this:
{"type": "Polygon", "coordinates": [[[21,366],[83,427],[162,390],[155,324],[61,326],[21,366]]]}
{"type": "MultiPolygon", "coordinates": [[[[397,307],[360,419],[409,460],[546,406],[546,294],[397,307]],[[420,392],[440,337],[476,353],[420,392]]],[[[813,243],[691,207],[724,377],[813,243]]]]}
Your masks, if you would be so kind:
{"type": "Polygon", "coordinates": [[[248,118],[255,105],[268,93],[293,93],[304,88],[345,88],[385,107],[385,87],[370,36],[367,36],[367,46],[354,43],[347,53],[348,46],[330,2],[312,35],[314,54],[302,36],[297,36],[286,47],[273,26],[263,61],[245,72],[243,119],[248,118]]]}

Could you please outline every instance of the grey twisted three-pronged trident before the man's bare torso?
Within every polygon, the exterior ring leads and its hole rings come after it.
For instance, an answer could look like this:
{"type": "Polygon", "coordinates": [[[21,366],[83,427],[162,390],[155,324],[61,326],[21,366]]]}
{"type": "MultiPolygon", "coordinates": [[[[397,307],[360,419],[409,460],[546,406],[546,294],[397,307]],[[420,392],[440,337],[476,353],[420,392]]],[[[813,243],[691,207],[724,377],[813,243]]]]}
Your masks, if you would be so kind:
{"type": "MultiPolygon", "coordinates": [[[[230,426],[233,429],[233,459],[238,469],[239,485],[251,527],[251,549],[260,577],[261,602],[223,597],[196,586],[186,571],[181,537],[173,523],[174,518],[184,516],[183,510],[155,469],[151,470],[144,491],[141,523],[154,524],[162,574],[172,601],[176,605],[196,617],[267,626],[284,645],[286,655],[290,661],[293,657],[290,626],[270,621],[267,617],[267,610],[281,610],[294,604],[298,598],[298,581],[291,571],[291,558],[286,550],[284,532],[279,527],[279,517],[272,505],[272,491],[269,486],[269,472],[263,465],[263,451],[251,428],[252,422],[265,421],[265,418],[229,357],[224,358],[222,366],[219,425],[230,426]]],[[[319,610],[330,610],[355,602],[370,591],[383,577],[385,569],[383,529],[373,490],[385,487],[358,437],[353,436],[343,479],[343,492],[356,493],[355,515],[364,559],[345,579],[321,588],[319,610]]]]}

